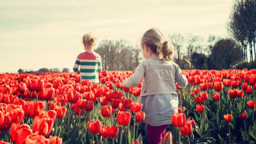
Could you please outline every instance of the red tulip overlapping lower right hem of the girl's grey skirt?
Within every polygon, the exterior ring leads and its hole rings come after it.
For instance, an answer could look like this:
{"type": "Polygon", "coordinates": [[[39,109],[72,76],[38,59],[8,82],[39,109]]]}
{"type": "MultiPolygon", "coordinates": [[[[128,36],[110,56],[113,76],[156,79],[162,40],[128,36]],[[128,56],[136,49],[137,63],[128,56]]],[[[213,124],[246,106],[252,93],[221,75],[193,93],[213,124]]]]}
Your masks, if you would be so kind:
{"type": "Polygon", "coordinates": [[[174,127],[181,128],[186,124],[186,116],[184,113],[173,113],[171,120],[174,127]]]}

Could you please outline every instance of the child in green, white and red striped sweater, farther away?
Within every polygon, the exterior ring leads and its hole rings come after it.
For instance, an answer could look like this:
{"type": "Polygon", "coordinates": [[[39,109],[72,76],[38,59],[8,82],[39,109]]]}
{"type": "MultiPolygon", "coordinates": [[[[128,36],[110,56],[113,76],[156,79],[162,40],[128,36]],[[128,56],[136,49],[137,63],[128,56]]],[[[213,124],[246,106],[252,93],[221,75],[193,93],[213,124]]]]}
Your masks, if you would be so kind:
{"type": "Polygon", "coordinates": [[[94,52],[96,37],[91,33],[83,35],[83,47],[85,52],[76,57],[73,71],[80,73],[82,79],[90,79],[91,83],[99,83],[98,72],[101,72],[101,57],[94,52]],[[80,70],[78,69],[80,66],[80,70]]]}

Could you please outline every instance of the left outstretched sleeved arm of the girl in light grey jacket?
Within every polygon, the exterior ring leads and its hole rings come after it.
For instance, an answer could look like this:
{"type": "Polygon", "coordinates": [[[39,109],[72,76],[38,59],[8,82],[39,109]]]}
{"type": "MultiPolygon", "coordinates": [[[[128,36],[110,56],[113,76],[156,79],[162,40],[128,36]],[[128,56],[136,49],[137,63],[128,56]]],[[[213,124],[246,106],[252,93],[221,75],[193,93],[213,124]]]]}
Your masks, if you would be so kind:
{"type": "Polygon", "coordinates": [[[135,73],[130,76],[128,79],[125,79],[124,82],[122,83],[123,87],[136,87],[140,82],[141,79],[143,79],[145,73],[145,69],[143,66],[143,63],[140,63],[137,68],[135,68],[135,73]]]}

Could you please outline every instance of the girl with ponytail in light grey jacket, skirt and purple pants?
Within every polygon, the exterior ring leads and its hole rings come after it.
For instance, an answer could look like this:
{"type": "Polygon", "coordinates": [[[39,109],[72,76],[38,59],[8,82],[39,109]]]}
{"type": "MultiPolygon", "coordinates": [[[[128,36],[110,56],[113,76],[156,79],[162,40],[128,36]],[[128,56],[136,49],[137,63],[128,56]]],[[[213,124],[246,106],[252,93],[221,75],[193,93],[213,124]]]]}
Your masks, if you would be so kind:
{"type": "Polygon", "coordinates": [[[143,104],[145,123],[150,143],[161,143],[165,128],[171,124],[171,116],[177,113],[178,96],[176,84],[180,88],[187,85],[179,65],[172,60],[173,46],[157,28],[146,31],[141,40],[143,57],[135,73],[125,79],[124,87],[135,87],[143,79],[140,102],[143,104]]]}

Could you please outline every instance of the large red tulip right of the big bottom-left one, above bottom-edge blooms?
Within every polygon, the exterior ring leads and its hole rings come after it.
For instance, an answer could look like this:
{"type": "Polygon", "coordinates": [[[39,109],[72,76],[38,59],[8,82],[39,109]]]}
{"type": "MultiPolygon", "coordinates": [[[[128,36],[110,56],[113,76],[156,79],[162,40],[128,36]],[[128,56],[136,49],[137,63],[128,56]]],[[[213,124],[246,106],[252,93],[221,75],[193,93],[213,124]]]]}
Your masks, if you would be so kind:
{"type": "Polygon", "coordinates": [[[39,132],[39,135],[43,135],[47,137],[50,135],[51,130],[54,126],[54,120],[50,118],[42,118],[39,119],[39,116],[35,116],[35,119],[33,121],[32,130],[33,133],[36,131],[39,132]]]}

